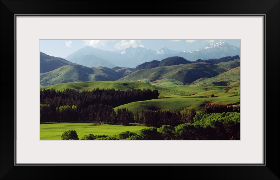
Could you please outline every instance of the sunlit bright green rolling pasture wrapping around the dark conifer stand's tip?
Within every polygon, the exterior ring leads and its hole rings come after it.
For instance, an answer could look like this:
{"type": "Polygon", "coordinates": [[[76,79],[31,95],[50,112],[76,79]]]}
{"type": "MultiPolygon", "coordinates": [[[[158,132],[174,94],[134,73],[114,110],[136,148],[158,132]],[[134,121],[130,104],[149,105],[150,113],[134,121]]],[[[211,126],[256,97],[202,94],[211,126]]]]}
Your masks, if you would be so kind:
{"type": "Polygon", "coordinates": [[[192,85],[176,85],[175,83],[172,85],[170,82],[166,83],[168,83],[168,87],[142,82],[94,81],[63,83],[44,88],[55,88],[57,90],[72,88],[80,91],[91,90],[93,88],[114,88],[119,90],[131,90],[139,88],[152,90],[157,89],[159,91],[160,95],[158,99],[133,102],[115,108],[115,110],[118,108],[128,108],[129,110],[132,110],[133,113],[136,113],[137,111],[141,112],[141,110],[181,111],[185,107],[194,107],[197,111],[199,111],[202,110],[202,108],[208,102],[215,102],[216,104],[228,104],[237,103],[240,101],[240,86],[217,86],[213,84],[207,84],[205,82],[192,85]],[[215,98],[211,98],[212,94],[214,94],[215,98]]]}

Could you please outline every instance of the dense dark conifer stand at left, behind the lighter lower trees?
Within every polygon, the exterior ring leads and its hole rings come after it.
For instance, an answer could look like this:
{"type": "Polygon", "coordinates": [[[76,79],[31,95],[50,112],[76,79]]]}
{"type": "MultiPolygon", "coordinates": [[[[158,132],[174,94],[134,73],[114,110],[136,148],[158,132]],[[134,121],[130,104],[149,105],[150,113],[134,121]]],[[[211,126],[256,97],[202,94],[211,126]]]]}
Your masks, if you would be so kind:
{"type": "Polygon", "coordinates": [[[89,105],[96,103],[110,105],[115,108],[136,101],[156,99],[158,96],[158,90],[151,89],[121,91],[110,88],[96,88],[91,91],[83,90],[82,92],[78,92],[74,89],[60,91],[52,88],[40,90],[40,103],[50,105],[52,111],[64,105],[75,105],[78,109],[81,109],[88,108],[89,105]]]}

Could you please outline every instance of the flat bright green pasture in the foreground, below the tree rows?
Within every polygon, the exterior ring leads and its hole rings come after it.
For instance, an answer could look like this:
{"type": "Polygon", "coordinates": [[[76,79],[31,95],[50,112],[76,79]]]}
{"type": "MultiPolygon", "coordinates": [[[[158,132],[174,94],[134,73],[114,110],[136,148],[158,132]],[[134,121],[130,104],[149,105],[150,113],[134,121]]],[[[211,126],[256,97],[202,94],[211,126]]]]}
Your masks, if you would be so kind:
{"type": "Polygon", "coordinates": [[[123,126],[93,123],[52,123],[40,124],[40,140],[60,140],[64,131],[75,130],[78,138],[84,135],[114,135],[125,131],[138,133],[145,126],[123,126]]]}

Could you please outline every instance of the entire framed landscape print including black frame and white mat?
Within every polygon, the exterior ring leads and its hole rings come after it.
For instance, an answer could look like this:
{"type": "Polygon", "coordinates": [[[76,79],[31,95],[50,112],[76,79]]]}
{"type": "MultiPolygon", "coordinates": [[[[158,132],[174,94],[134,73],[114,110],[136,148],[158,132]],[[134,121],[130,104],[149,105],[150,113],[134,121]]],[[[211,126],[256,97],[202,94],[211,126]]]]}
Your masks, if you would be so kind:
{"type": "Polygon", "coordinates": [[[279,179],[279,121],[266,113],[278,112],[266,85],[279,77],[279,1],[157,15],[73,13],[88,7],[75,2],[61,12],[54,1],[1,1],[14,39],[1,57],[15,63],[1,179],[88,179],[80,173],[92,168],[134,179],[118,174],[147,166],[169,172],[149,179],[279,179]],[[69,168],[80,170],[42,175],[69,168]]]}

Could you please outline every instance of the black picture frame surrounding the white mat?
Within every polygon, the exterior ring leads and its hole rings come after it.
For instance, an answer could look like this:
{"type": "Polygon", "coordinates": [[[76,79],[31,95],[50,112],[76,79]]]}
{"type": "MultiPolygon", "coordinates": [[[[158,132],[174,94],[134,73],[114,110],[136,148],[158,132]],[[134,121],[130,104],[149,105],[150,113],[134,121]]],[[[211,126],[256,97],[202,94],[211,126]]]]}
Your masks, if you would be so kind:
{"type": "MultiPolygon", "coordinates": [[[[279,0],[277,1],[1,1],[1,179],[279,179],[279,0]],[[126,8],[137,4],[136,8],[126,8]],[[203,5],[202,5],[203,4],[203,5]],[[143,14],[145,9],[145,14],[143,14]],[[264,16],[264,164],[15,165],[16,15],[264,16]],[[9,70],[12,69],[10,72],[9,70]],[[8,73],[7,73],[8,70],[8,73]],[[5,73],[5,75],[4,75],[5,73]],[[7,76],[8,75],[8,76],[7,76]],[[12,83],[14,81],[14,83],[12,83]],[[6,88],[5,88],[6,87],[6,88]],[[266,88],[267,87],[267,88],[266,88]],[[3,99],[5,98],[5,100],[3,99]],[[8,100],[6,98],[8,97],[8,100]],[[269,103],[268,103],[269,102],[269,103]],[[128,173],[129,172],[129,173],[128,173]],[[135,174],[133,177],[130,173],[135,174]]],[[[242,27],[241,27],[242,28],[242,27]]],[[[249,72],[248,72],[249,73],[249,72]]],[[[258,85],[261,86],[261,85],[258,85]]],[[[259,104],[262,105],[262,104],[259,104]]],[[[31,111],[32,113],[32,111],[31,111]]],[[[253,127],[253,125],[252,125],[253,127]]],[[[27,137],[28,138],[28,137],[27,137]]],[[[28,147],[32,148],[32,147],[28,147]]],[[[164,158],[164,157],[163,157],[164,158]]],[[[226,158],[226,157],[225,157],[226,158]]]]}

